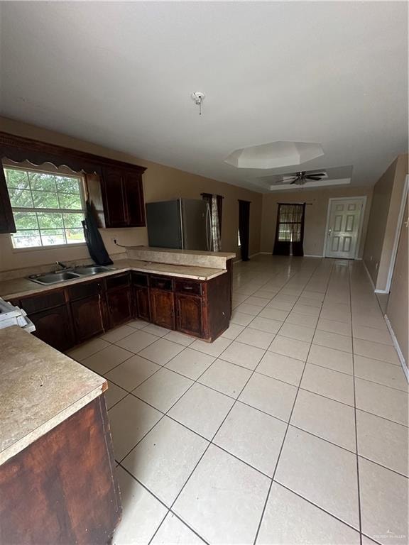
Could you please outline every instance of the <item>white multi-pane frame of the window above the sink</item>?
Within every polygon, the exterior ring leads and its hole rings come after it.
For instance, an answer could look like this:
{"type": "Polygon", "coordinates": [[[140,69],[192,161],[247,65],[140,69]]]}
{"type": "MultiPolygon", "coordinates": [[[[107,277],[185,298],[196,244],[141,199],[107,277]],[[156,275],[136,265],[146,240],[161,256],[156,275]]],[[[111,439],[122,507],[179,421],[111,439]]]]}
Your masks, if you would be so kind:
{"type": "MultiPolygon", "coordinates": [[[[27,213],[38,213],[38,214],[61,213],[61,215],[62,215],[62,230],[63,231],[65,231],[65,224],[64,224],[63,214],[82,214],[83,216],[85,216],[85,188],[84,188],[84,176],[82,175],[82,172],[74,172],[74,171],[65,172],[65,170],[70,170],[70,169],[64,169],[64,171],[62,171],[62,170],[59,170],[56,167],[53,168],[53,165],[50,165],[50,167],[48,167],[48,165],[39,165],[38,167],[36,167],[36,165],[26,166],[26,165],[21,165],[21,164],[14,164],[11,161],[4,161],[2,167],[3,167],[4,170],[23,170],[23,172],[36,172],[36,173],[40,172],[40,173],[43,173],[43,174],[54,175],[54,176],[66,176],[66,177],[78,178],[80,180],[80,199],[81,199],[81,205],[82,205],[81,209],[72,209],[72,208],[71,209],[36,208],[36,207],[29,208],[29,207],[13,207],[13,205],[11,205],[11,211],[13,213],[13,216],[14,216],[14,212],[19,212],[19,213],[27,212],[27,213]]],[[[4,172],[4,175],[6,176],[6,172],[4,172]]],[[[31,184],[29,184],[29,189],[30,189],[30,192],[31,192],[31,199],[33,200],[31,184]]],[[[58,197],[58,191],[56,193],[57,193],[57,197],[58,197]]],[[[38,231],[39,231],[39,234],[40,234],[40,241],[42,242],[43,239],[41,237],[40,229],[38,229],[38,231]]],[[[51,249],[54,249],[54,248],[56,248],[56,249],[57,248],[75,248],[75,247],[78,247],[78,246],[85,246],[86,245],[85,241],[81,241],[81,242],[77,242],[77,243],[73,242],[73,243],[46,244],[46,245],[41,243],[39,246],[25,246],[25,247],[23,246],[21,248],[17,248],[16,246],[14,246],[14,243],[13,243],[13,234],[14,233],[10,234],[13,253],[51,250],[51,249]]]]}

